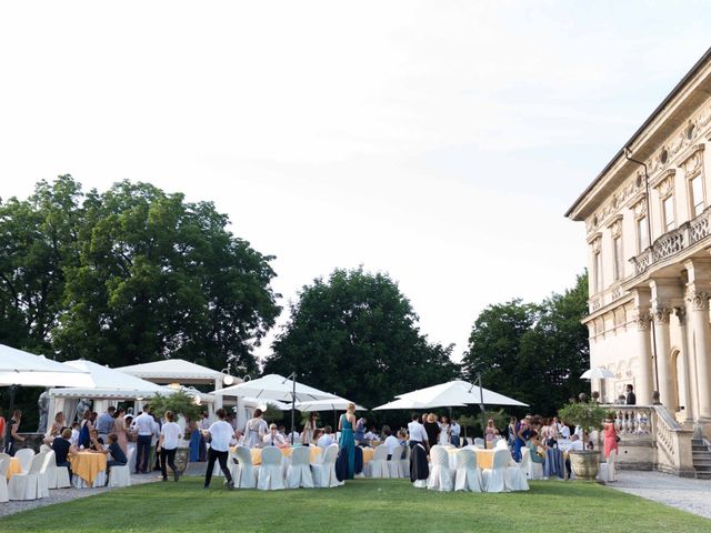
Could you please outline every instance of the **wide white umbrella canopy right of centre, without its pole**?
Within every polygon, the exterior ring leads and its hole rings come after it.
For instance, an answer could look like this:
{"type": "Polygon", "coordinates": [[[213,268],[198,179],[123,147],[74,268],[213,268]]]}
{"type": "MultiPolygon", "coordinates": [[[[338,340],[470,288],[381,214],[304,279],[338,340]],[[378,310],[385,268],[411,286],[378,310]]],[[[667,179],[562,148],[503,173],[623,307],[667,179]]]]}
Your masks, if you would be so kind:
{"type": "Polygon", "coordinates": [[[461,380],[418,389],[405,394],[399,394],[397,399],[394,402],[375,408],[375,410],[453,408],[480,403],[484,405],[527,406],[523,402],[461,380]]]}

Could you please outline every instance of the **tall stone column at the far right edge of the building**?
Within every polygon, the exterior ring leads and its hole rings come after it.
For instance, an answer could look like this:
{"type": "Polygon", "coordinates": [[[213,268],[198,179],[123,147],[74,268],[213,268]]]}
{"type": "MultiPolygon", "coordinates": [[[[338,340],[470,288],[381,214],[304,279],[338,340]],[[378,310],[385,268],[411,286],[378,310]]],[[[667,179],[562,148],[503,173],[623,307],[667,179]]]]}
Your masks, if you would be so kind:
{"type": "Polygon", "coordinates": [[[690,336],[697,368],[699,418],[711,420],[711,326],[709,326],[709,296],[711,290],[711,260],[689,260],[684,263],[689,274],[687,303],[690,336]]]}

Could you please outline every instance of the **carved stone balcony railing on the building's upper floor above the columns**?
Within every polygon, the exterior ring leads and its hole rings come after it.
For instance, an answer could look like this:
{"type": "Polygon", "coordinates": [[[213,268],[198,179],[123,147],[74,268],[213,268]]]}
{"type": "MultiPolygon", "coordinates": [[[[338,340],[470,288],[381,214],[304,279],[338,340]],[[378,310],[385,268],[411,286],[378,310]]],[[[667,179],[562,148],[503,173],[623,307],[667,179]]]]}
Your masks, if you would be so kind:
{"type": "Polygon", "coordinates": [[[643,274],[654,263],[671,258],[711,234],[711,207],[697,218],[668,231],[639,255],[630,259],[635,275],[643,274]]]}

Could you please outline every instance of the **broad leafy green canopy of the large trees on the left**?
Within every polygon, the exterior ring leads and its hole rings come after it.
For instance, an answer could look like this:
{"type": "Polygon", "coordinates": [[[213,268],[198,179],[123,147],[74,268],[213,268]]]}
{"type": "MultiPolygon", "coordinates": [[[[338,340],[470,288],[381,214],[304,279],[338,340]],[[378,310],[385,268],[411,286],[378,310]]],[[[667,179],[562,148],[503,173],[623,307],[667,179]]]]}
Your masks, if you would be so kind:
{"type": "Polygon", "coordinates": [[[182,358],[257,369],[279,306],[273,259],[211,202],[70,175],[0,204],[0,342],[112,366],[182,358]]]}

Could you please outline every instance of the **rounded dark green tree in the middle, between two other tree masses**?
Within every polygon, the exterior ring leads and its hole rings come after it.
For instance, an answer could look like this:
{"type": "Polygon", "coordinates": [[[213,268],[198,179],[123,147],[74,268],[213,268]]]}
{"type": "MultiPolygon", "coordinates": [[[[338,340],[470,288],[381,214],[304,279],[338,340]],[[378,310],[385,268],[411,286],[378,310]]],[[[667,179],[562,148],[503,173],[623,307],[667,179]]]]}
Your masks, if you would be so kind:
{"type": "Polygon", "coordinates": [[[398,284],[362,268],[317,279],[291,305],[266,372],[343,395],[367,406],[453,379],[451,346],[428,342],[398,284]]]}

